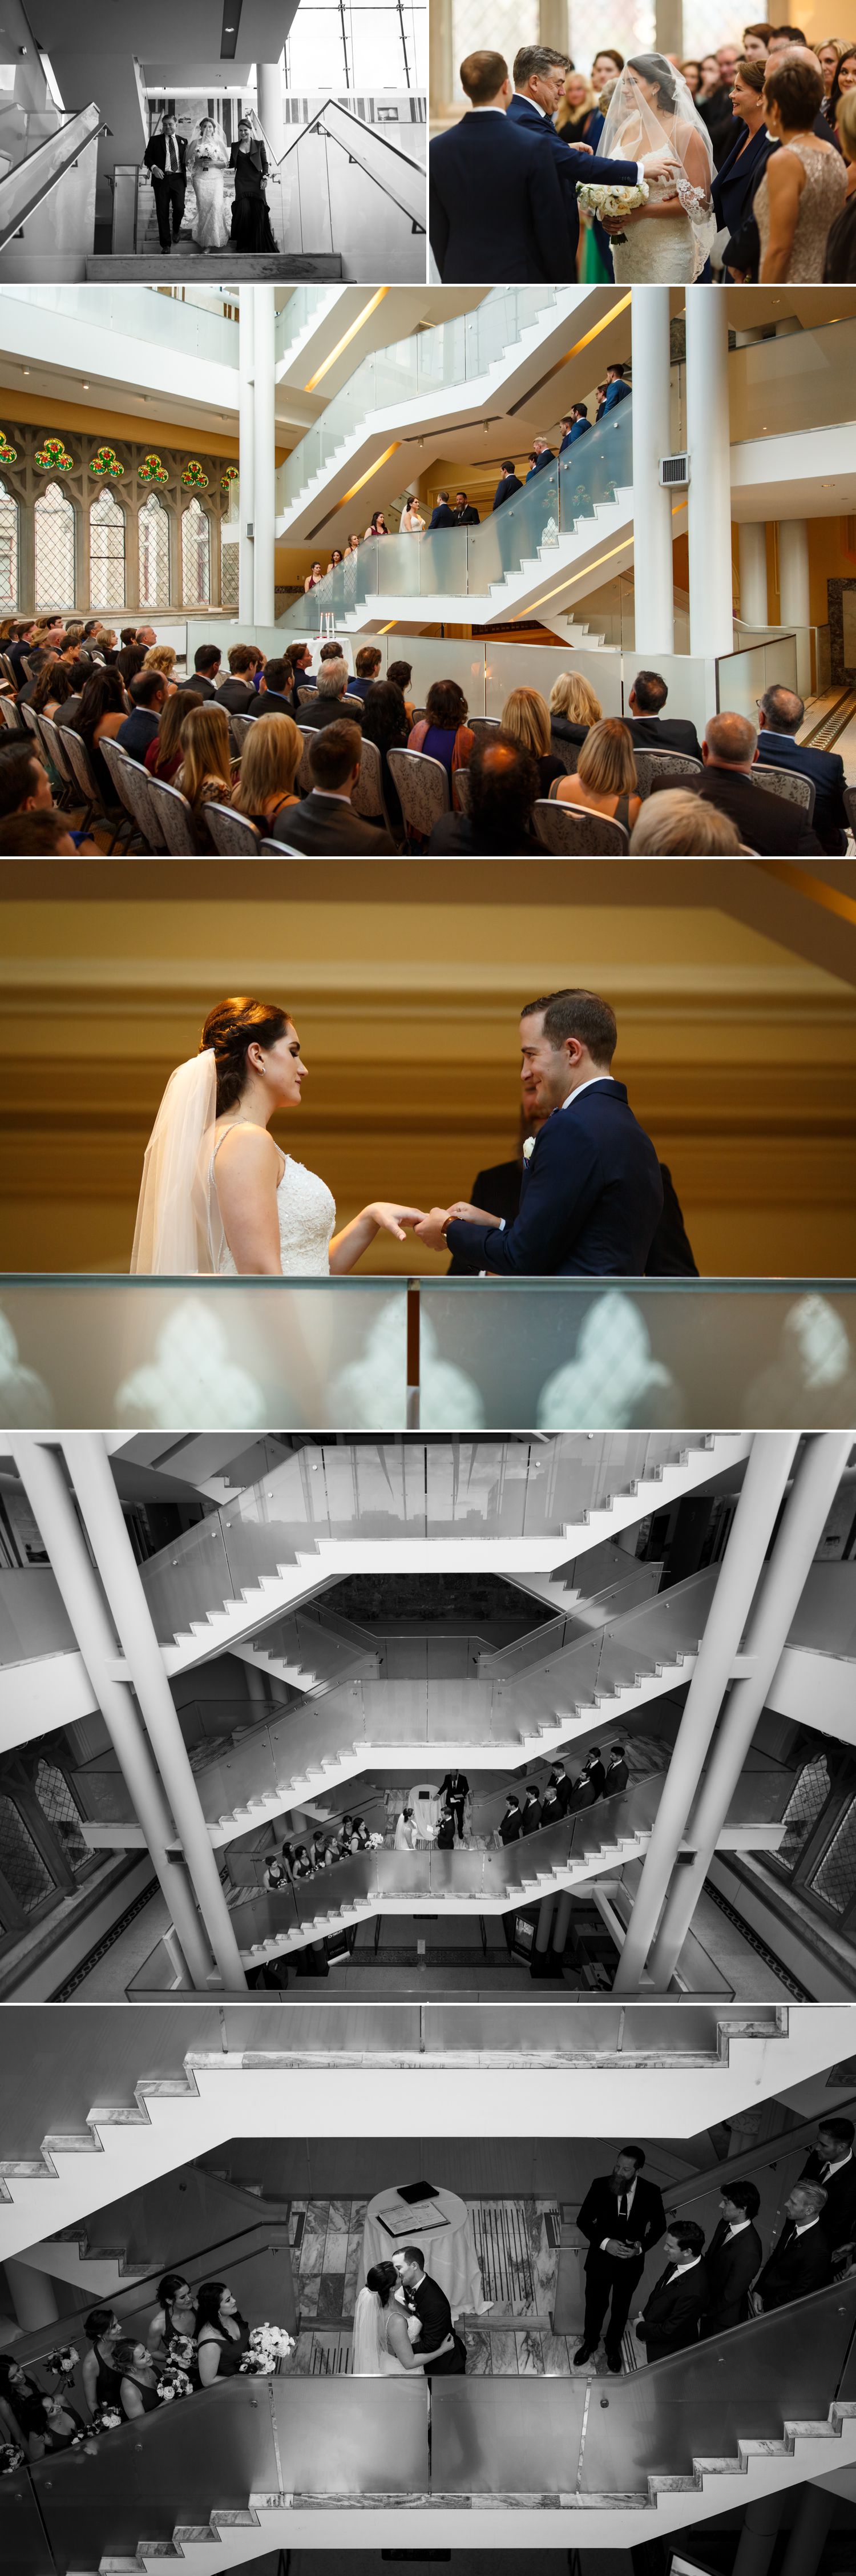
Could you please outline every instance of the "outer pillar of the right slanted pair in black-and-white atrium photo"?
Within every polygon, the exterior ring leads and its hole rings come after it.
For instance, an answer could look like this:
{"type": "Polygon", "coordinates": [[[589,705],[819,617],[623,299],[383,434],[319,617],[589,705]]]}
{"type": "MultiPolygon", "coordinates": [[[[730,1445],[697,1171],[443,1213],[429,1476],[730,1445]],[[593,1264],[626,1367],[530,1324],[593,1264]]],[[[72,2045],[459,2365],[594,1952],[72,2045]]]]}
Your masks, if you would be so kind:
{"type": "Polygon", "coordinates": [[[851,1448],[853,1432],[812,1432],[802,1450],[781,1530],[745,1633],[745,1654],[753,1656],[753,1669],[730,1692],[699,1795],[694,1816],[696,1857],[691,1868],[676,1870],[665,1899],[663,1924],[650,1958],[657,1991],[668,1986],[686,1942],[851,1448]]]}

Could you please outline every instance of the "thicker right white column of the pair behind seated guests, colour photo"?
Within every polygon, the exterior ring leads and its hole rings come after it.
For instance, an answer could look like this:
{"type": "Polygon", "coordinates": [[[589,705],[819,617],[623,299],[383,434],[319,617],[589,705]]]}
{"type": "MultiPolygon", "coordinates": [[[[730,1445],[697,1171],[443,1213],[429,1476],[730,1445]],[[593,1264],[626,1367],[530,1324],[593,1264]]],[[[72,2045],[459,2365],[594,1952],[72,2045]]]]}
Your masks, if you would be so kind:
{"type": "MultiPolygon", "coordinates": [[[[645,289],[647,294],[647,289],[645,289]]],[[[694,654],[732,652],[732,459],[727,415],[727,296],[686,296],[688,639],[694,654]]]]}

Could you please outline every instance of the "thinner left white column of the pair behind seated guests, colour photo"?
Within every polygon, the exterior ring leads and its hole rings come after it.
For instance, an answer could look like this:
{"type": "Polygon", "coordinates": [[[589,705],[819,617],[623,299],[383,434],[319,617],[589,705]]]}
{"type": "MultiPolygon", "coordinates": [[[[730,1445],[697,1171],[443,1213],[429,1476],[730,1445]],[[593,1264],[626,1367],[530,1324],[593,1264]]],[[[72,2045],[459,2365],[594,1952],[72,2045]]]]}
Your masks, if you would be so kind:
{"type": "Polygon", "coordinates": [[[668,301],[668,286],[645,286],[632,307],[637,659],[676,649],[673,497],[660,487],[660,456],[670,451],[668,301]]]}

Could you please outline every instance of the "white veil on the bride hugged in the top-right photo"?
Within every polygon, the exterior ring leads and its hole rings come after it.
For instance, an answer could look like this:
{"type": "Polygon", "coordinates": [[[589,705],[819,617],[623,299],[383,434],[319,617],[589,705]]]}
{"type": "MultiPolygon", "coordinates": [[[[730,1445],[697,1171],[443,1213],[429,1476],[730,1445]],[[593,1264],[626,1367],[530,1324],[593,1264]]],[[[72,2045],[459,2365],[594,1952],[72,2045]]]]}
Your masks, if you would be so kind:
{"type": "Polygon", "coordinates": [[[714,147],[683,72],[665,54],[634,54],[616,77],[598,155],[645,160],[663,147],[676,162],[676,196],[694,229],[699,276],[717,240],[714,147]]]}

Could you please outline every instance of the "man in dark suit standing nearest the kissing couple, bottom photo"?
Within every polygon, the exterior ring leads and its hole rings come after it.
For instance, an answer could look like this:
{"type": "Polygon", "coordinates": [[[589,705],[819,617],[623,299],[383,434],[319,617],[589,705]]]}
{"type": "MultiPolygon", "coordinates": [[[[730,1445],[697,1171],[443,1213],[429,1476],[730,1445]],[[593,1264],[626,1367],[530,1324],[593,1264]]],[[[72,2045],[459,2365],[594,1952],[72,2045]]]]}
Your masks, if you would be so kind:
{"type": "Polygon", "coordinates": [[[606,2365],[621,2370],[621,2334],[629,2303],[645,2272],[645,2257],[665,2236],[665,2208],[655,2182],[642,2177],[642,2146],[621,2146],[611,2174],[590,2182],[578,2228],[588,2236],[585,2326],[575,2370],[590,2362],[606,2324],[606,2365]]]}

